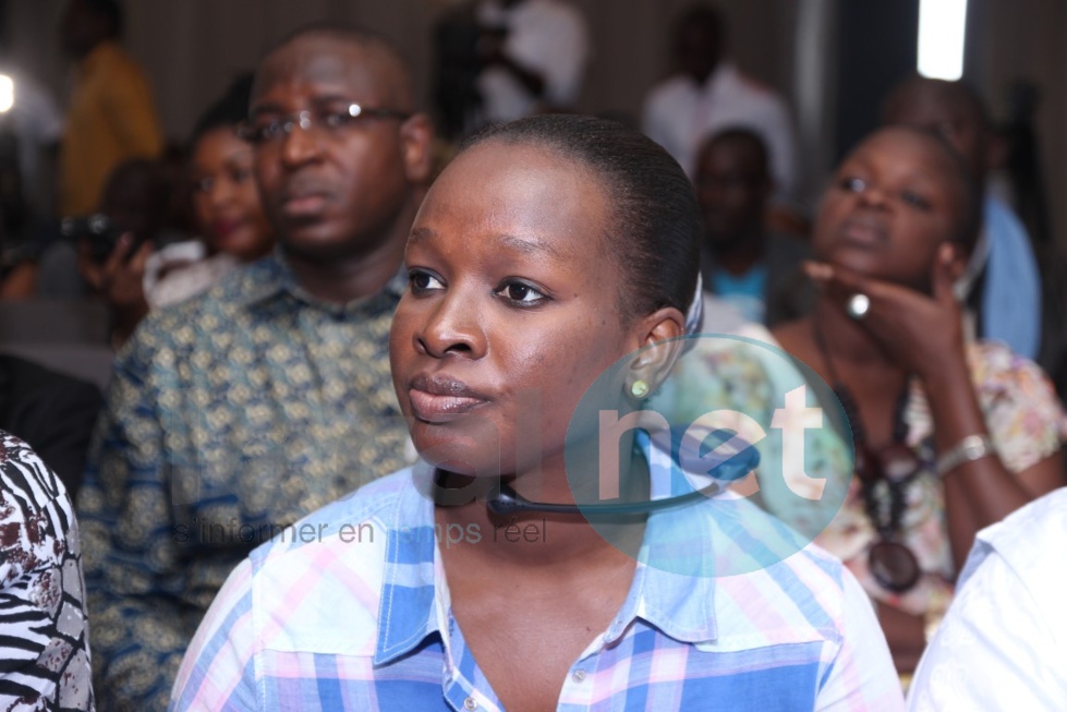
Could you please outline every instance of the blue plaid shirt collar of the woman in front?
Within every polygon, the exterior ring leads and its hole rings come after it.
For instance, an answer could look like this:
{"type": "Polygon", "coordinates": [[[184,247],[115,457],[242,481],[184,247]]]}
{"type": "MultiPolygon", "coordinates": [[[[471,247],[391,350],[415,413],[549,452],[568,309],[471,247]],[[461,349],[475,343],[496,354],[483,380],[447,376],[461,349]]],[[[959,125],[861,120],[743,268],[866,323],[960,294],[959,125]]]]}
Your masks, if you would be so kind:
{"type": "MultiPolygon", "coordinates": [[[[654,478],[663,472],[671,482],[684,479],[668,454],[652,448],[650,461],[654,478]]],[[[411,483],[396,499],[387,534],[376,665],[410,652],[432,633],[447,638],[441,626],[450,606],[437,554],[432,484],[433,468],[420,460],[411,483]]],[[[717,638],[715,557],[708,555],[708,542],[722,534],[713,529],[703,503],[648,517],[630,592],[608,626],[605,643],[620,638],[639,618],[680,642],[717,638]]]]}

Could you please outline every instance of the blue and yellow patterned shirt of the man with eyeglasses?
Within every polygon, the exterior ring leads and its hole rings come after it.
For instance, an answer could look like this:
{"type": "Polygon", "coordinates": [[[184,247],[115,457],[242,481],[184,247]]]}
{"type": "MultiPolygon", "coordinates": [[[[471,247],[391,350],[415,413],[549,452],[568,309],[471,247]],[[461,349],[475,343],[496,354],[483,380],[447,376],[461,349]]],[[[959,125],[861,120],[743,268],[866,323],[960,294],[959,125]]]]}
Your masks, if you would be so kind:
{"type": "Polygon", "coordinates": [[[77,511],[101,709],[165,709],[230,570],[408,463],[388,343],[405,282],[327,304],[276,253],[153,311],[119,353],[77,511]]]}

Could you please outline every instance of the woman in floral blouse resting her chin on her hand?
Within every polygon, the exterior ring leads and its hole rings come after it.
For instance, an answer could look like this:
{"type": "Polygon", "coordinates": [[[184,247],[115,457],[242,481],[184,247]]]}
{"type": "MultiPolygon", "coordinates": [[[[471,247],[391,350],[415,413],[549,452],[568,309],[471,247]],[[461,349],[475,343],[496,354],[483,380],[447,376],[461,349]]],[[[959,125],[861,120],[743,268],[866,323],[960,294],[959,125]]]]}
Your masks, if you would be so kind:
{"type": "MultiPolygon", "coordinates": [[[[977,532],[1064,481],[1067,417],[1047,377],[963,328],[953,285],[980,220],[981,194],[950,144],[914,126],[884,128],[845,157],[824,192],[816,262],[805,263],[817,288],[811,313],[739,330],[807,364],[841,403],[835,426],[813,432],[804,457],[792,458],[803,467],[786,471],[786,492],[820,500],[823,486],[847,485],[815,543],[875,601],[904,681],[977,532]]],[[[708,358],[687,374],[687,390],[717,378],[731,387],[716,406],[777,408],[767,384],[792,372],[751,375],[750,362],[729,350],[708,358]]],[[[771,487],[760,495],[789,519],[793,502],[771,487]]]]}

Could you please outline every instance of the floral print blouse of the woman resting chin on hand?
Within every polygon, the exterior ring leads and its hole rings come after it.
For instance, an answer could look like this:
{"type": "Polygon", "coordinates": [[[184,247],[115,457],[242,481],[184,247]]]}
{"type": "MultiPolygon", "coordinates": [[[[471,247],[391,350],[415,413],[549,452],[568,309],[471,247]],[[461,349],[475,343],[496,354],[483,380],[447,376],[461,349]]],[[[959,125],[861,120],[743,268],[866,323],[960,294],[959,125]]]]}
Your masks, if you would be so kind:
{"type": "MultiPolygon", "coordinates": [[[[768,353],[784,354],[771,333],[762,326],[747,326],[739,336],[742,340],[756,340],[772,347],[768,353]]],[[[706,349],[695,358],[683,358],[672,374],[675,383],[669,386],[670,407],[684,411],[687,418],[692,418],[699,410],[727,407],[756,420],[762,413],[769,423],[771,413],[780,407],[783,393],[789,387],[783,384],[805,376],[797,372],[796,360],[789,364],[789,359],[768,354],[753,358],[753,351],[757,350],[733,348],[736,345],[723,339],[717,348],[706,349]],[[789,371],[792,373],[787,373],[789,371]]],[[[1055,454],[1067,436],[1067,415],[1044,372],[996,341],[969,343],[967,359],[991,438],[1005,467],[1018,473],[1055,454]]],[[[828,526],[815,536],[815,543],[840,557],[872,599],[912,615],[939,614],[951,600],[957,563],[949,548],[945,502],[935,468],[933,421],[918,381],[912,382],[904,419],[906,443],[916,451],[921,471],[906,491],[901,541],[919,560],[922,569],[919,583],[908,592],[897,594],[878,584],[869,571],[868,551],[878,534],[866,515],[858,478],[848,482],[844,504],[836,514],[827,517],[828,526]]],[[[768,454],[764,448],[763,461],[776,464],[777,456],[784,479],[793,493],[801,493],[805,487],[811,490],[820,482],[814,474],[844,486],[851,475],[848,471],[852,463],[850,445],[844,443],[833,427],[813,429],[807,433],[807,475],[803,468],[781,458],[780,452],[768,454]]],[[[773,447],[773,443],[768,438],[768,447],[773,447]]],[[[756,474],[762,476],[760,471],[756,474]]],[[[777,506],[773,497],[766,498],[765,504],[783,516],[783,506],[777,506]]],[[[804,524],[802,517],[783,516],[800,528],[804,524]]]]}

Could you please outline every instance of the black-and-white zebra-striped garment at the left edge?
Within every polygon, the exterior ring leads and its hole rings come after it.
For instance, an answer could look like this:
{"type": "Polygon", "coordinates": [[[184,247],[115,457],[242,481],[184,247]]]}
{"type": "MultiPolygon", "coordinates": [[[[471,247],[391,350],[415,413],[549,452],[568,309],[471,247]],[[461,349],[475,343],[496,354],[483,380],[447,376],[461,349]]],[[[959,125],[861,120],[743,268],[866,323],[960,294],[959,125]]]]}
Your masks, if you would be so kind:
{"type": "Polygon", "coordinates": [[[0,710],[94,710],[77,522],[66,490],[0,431],[0,710]]]}

